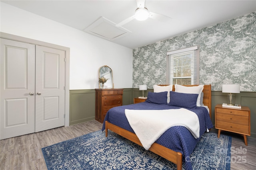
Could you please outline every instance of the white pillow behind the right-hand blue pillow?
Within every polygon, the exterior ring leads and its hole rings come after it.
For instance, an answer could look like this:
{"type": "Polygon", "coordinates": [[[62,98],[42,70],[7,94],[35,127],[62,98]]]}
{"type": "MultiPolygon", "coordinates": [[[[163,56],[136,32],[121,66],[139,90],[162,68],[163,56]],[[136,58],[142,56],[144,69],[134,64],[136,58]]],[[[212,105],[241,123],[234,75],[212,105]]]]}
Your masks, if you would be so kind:
{"type": "Polygon", "coordinates": [[[201,93],[204,89],[204,85],[199,85],[199,86],[182,86],[179,84],[175,84],[175,92],[179,93],[189,93],[189,94],[198,94],[197,100],[196,100],[196,106],[200,107],[200,98],[201,98],[201,93]]]}

